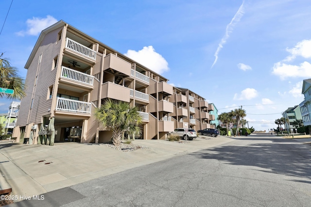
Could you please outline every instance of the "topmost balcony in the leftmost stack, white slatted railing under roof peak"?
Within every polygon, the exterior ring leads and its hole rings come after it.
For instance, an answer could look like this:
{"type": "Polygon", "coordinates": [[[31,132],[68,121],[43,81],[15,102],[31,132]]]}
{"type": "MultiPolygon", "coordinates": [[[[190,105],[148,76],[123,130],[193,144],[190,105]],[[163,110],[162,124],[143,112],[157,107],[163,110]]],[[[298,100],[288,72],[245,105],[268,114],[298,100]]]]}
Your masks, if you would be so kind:
{"type": "Polygon", "coordinates": [[[83,57],[89,63],[95,63],[96,61],[96,51],[87,48],[86,46],[73,41],[72,39],[66,38],[66,46],[65,51],[69,51],[69,53],[75,57],[83,57]]]}

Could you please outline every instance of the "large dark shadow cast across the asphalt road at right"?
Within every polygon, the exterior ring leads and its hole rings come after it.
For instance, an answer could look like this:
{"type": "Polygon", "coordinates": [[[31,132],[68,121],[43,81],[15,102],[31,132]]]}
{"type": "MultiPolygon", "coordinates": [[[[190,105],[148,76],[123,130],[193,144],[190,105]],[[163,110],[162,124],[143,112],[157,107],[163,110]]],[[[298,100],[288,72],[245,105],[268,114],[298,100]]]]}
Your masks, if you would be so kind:
{"type": "MultiPolygon", "coordinates": [[[[253,139],[247,138],[247,140],[253,139]]],[[[199,159],[216,159],[231,165],[261,167],[268,169],[262,170],[268,173],[311,179],[310,146],[303,147],[306,145],[300,144],[298,147],[298,143],[295,144],[292,140],[290,140],[292,143],[285,139],[271,140],[274,143],[220,145],[191,153],[191,155],[199,159]]]]}

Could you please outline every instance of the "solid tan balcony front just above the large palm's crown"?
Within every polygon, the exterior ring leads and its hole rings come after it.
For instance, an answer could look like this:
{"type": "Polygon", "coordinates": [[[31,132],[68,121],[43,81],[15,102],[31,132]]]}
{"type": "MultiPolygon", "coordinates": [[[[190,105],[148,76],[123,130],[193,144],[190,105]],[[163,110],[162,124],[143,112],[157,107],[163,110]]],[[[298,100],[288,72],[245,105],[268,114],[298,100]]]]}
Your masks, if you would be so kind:
{"type": "Polygon", "coordinates": [[[105,82],[102,84],[101,97],[130,102],[130,89],[113,82],[105,82]]]}

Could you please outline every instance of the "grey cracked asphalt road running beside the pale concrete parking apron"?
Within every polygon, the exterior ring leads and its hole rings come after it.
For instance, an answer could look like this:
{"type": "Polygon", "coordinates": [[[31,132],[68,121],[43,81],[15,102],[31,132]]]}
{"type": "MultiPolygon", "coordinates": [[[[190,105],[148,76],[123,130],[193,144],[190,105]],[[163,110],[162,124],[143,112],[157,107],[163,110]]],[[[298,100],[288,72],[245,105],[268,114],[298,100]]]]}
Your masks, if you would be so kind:
{"type": "Polygon", "coordinates": [[[310,184],[310,144],[254,135],[11,206],[307,207],[310,184]]]}

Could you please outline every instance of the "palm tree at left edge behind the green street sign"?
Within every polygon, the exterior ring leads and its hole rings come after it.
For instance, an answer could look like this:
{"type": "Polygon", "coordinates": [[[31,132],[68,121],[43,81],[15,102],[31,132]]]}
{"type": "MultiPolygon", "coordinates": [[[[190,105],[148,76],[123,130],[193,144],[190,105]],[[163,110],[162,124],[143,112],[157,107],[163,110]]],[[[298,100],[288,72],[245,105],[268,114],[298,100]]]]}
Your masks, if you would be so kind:
{"type": "Polygon", "coordinates": [[[2,58],[0,54],[0,87],[13,89],[13,94],[0,93],[0,97],[6,96],[9,99],[21,99],[26,96],[25,80],[17,75],[17,68],[12,67],[8,58],[2,58]]]}

